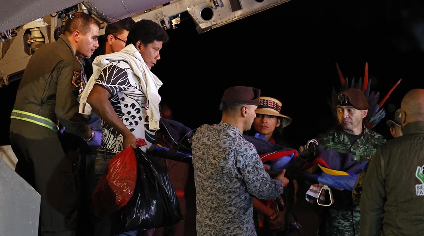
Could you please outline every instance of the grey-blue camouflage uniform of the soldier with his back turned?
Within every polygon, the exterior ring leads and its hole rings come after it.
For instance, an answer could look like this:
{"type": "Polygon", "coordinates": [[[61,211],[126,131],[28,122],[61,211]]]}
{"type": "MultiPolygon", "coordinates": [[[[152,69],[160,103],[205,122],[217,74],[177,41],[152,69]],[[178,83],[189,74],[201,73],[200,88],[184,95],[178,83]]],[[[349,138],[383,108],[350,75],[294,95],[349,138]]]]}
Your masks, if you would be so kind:
{"type": "Polygon", "coordinates": [[[192,149],[197,234],[256,236],[253,196],[276,198],[283,182],[265,172],[255,146],[228,123],[200,126],[192,149]]]}

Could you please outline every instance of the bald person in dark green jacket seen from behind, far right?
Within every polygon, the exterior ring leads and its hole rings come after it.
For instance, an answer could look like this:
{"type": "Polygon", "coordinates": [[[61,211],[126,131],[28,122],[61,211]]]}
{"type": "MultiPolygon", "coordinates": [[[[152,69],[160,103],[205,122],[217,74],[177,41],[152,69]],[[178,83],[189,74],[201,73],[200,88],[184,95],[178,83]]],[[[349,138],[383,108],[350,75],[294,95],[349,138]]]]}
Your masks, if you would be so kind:
{"type": "Polygon", "coordinates": [[[377,148],[364,180],[361,234],[424,232],[424,89],[412,89],[400,106],[401,137],[377,148]]]}

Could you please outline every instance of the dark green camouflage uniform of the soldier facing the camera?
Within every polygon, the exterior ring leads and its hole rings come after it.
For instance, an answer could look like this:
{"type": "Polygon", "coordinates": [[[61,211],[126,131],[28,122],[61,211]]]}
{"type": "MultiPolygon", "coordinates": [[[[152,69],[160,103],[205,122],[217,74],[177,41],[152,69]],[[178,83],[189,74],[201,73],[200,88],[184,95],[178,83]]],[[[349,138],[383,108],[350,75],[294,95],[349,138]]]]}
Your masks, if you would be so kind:
{"type": "MultiPolygon", "coordinates": [[[[386,142],[382,135],[365,126],[363,126],[362,135],[353,144],[350,144],[346,132],[340,126],[319,135],[316,140],[324,149],[351,153],[358,161],[369,161],[376,148],[386,142]]],[[[343,197],[341,197],[335,191],[337,190],[333,189],[334,201],[337,204],[325,208],[326,213],[322,219],[319,235],[359,236],[360,208],[352,201],[352,192],[343,190],[344,193],[341,194],[343,197]]],[[[355,190],[355,193],[359,193],[359,197],[360,191],[361,189],[355,190]]]]}

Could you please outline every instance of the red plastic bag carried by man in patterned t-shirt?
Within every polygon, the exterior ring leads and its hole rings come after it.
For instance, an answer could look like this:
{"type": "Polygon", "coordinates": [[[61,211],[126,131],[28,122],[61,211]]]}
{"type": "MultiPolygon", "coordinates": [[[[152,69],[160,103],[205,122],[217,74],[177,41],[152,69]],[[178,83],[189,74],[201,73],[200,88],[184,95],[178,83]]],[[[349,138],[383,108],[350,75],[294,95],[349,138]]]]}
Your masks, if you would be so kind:
{"type": "Polygon", "coordinates": [[[127,204],[134,194],[136,180],[136,156],[128,146],[110,159],[94,189],[92,201],[97,213],[100,216],[109,214],[127,204]]]}

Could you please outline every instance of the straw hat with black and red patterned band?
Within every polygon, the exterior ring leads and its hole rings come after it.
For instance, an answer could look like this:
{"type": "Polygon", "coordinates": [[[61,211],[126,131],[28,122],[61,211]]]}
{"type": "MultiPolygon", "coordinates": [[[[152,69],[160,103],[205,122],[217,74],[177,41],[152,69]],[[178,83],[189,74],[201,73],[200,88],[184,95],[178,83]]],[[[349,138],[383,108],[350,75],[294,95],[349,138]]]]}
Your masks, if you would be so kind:
{"type": "Polygon", "coordinates": [[[258,108],[256,109],[256,113],[263,114],[263,115],[276,116],[277,118],[281,119],[281,124],[283,125],[283,127],[286,127],[291,123],[292,119],[283,114],[280,114],[281,105],[282,105],[281,102],[275,98],[260,97],[259,105],[258,105],[258,108]]]}

